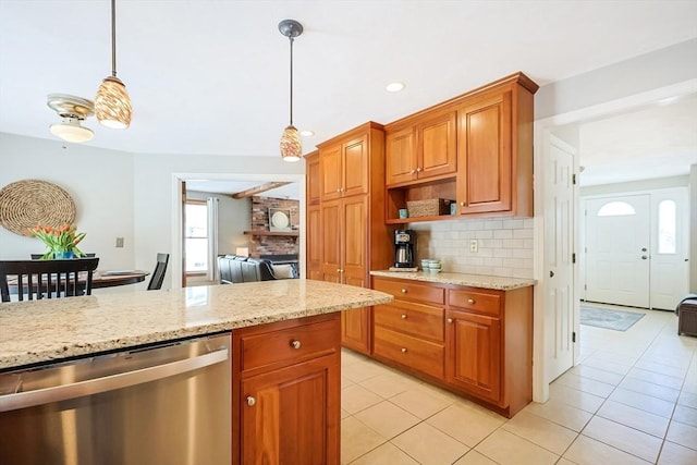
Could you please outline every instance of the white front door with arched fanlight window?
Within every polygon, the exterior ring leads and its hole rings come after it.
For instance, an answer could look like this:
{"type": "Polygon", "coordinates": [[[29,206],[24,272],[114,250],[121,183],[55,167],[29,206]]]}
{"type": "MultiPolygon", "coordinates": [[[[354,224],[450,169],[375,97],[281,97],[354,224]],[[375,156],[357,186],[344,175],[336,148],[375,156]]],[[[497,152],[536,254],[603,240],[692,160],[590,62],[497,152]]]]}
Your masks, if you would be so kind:
{"type": "Polygon", "coordinates": [[[649,196],[586,201],[586,301],[649,308],[649,196]]]}

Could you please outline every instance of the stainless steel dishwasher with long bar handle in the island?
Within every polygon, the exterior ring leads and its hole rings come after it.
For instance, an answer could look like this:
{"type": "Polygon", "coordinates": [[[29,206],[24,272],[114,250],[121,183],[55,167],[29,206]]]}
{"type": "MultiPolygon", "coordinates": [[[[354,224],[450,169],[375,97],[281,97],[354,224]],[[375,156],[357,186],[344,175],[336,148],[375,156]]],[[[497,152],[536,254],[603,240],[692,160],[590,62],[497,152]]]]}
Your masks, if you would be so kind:
{"type": "Polygon", "coordinates": [[[230,334],[0,374],[0,464],[231,463],[230,334]]]}

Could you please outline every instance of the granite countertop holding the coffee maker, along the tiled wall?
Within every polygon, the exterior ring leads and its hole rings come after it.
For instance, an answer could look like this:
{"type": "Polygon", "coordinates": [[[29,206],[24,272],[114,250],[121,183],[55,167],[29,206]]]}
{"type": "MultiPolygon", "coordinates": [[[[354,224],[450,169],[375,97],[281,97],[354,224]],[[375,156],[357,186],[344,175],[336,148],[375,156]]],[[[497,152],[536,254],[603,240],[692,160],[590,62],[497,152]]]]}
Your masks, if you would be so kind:
{"type": "Polygon", "coordinates": [[[537,284],[537,281],[529,278],[504,278],[491,277],[486,274],[465,274],[465,273],[425,273],[424,271],[405,272],[405,271],[370,271],[375,277],[407,279],[415,281],[426,281],[439,284],[456,284],[468,285],[472,287],[496,289],[499,291],[511,291],[518,287],[527,287],[537,284]]]}

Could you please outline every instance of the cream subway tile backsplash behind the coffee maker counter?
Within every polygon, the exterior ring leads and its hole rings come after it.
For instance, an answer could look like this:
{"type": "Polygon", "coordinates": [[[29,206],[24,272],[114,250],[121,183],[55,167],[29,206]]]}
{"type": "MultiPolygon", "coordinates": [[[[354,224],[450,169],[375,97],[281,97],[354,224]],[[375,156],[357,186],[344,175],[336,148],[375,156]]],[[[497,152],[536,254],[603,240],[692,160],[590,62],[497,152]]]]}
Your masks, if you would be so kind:
{"type": "Polygon", "coordinates": [[[489,218],[411,223],[416,259],[437,258],[443,271],[533,278],[534,220],[489,218]],[[470,241],[477,252],[469,252],[470,241]]]}

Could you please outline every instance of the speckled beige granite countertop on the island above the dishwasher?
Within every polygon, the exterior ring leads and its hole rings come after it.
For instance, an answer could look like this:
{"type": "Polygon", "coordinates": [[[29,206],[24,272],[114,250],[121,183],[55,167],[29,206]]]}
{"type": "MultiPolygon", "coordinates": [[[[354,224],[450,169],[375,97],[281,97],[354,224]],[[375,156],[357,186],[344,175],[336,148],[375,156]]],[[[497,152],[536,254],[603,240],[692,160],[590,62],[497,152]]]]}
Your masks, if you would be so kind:
{"type": "Polygon", "coordinates": [[[386,304],[382,292],[311,280],[0,304],[0,369],[386,304]]]}

